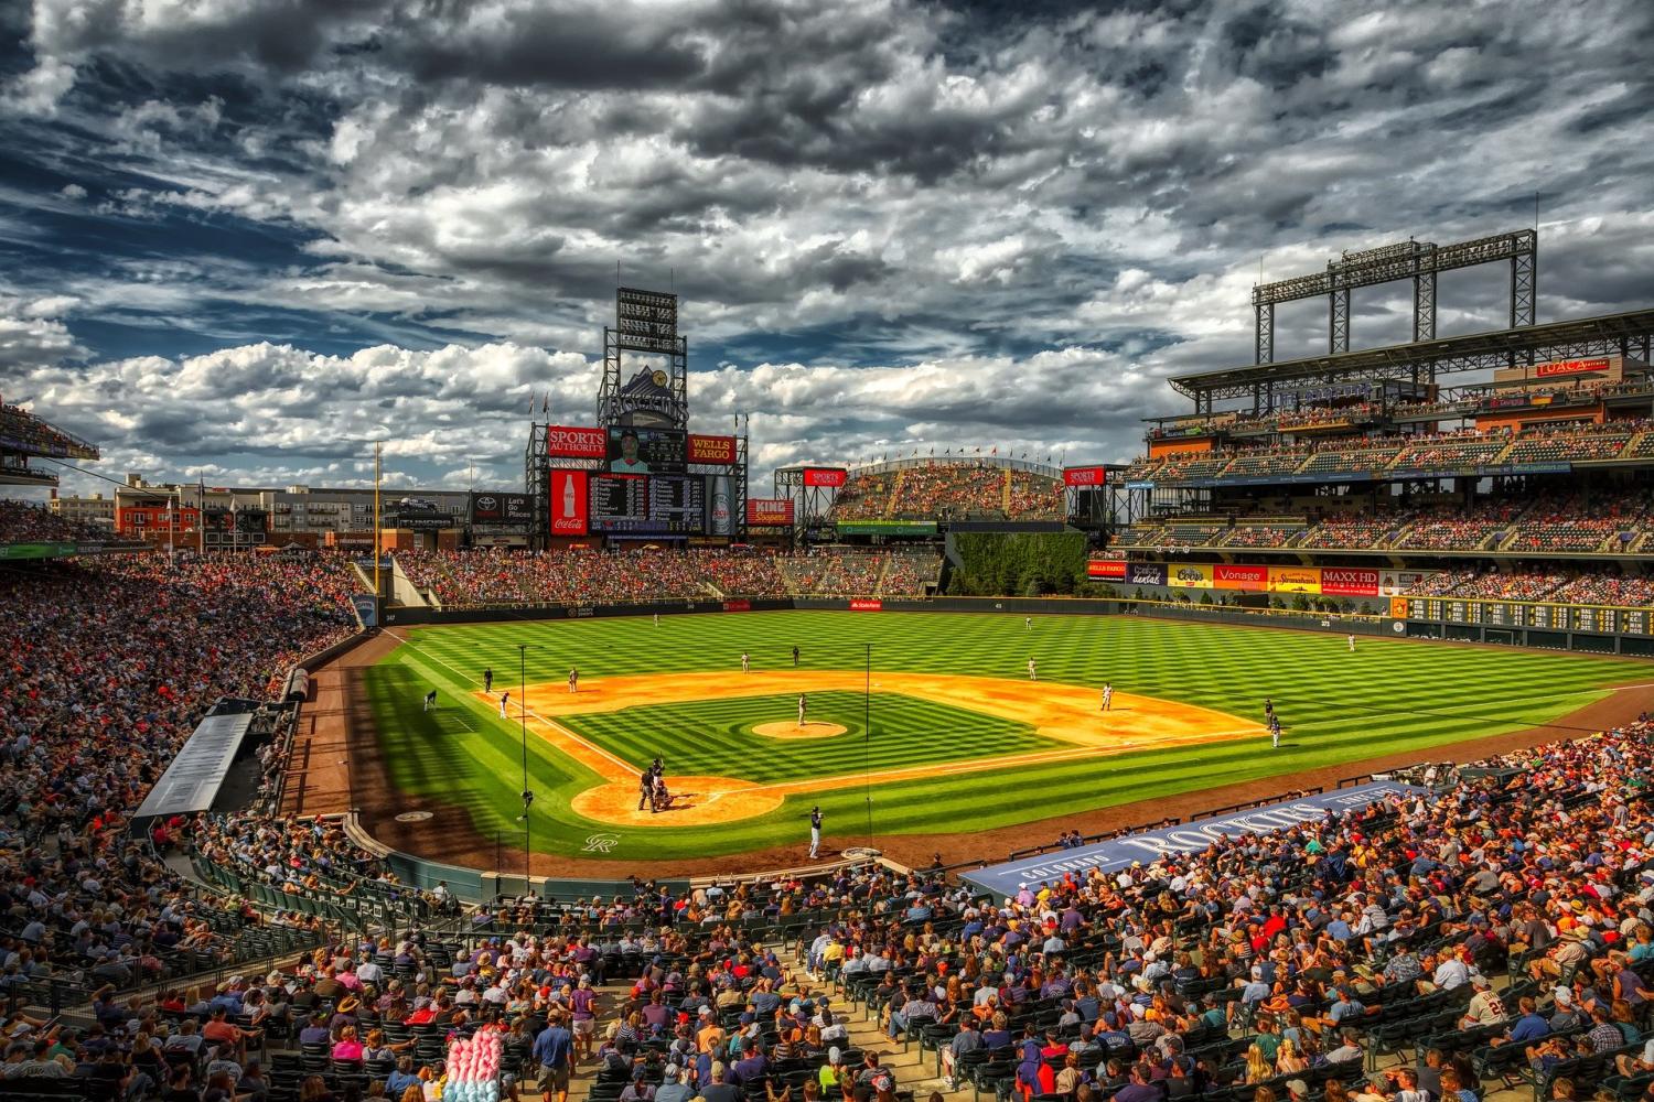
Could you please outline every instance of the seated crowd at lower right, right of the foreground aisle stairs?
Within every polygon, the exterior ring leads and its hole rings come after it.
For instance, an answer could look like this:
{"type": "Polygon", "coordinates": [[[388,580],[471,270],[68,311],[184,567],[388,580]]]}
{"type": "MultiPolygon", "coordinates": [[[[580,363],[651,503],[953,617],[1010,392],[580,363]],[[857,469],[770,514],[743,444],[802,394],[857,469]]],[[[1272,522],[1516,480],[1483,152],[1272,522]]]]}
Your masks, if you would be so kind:
{"type": "Polygon", "coordinates": [[[1024,882],[956,920],[910,891],[906,924],[830,925],[809,967],[938,1049],[949,1087],[1408,1102],[1480,1092],[1494,1064],[1537,1097],[1583,1097],[1550,1094],[1570,1076],[1639,1097],[1651,734],[1644,717],[1479,762],[1429,796],[1024,882]],[[1429,1052],[1370,1077],[1386,1034],[1429,1052]]]}

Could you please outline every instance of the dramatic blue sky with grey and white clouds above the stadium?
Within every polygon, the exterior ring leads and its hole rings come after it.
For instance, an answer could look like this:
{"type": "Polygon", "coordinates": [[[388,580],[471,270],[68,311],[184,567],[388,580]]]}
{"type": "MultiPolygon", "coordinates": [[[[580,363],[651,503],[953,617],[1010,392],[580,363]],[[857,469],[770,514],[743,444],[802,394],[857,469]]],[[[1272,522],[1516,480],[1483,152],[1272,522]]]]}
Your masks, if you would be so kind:
{"type": "MultiPolygon", "coordinates": [[[[0,395],[106,476],[521,486],[614,289],[695,431],[791,463],[1128,461],[1250,287],[1540,228],[1540,321],[1654,297],[1646,0],[0,5],[0,395]],[[538,410],[536,410],[538,411],[538,410]],[[475,476],[473,476],[475,471],[475,476]]],[[[1442,278],[1437,332],[1503,324],[1442,278]]],[[[1353,344],[1404,340],[1406,284],[1353,344]]],[[[1282,307],[1277,359],[1325,350],[1282,307]]],[[[65,492],[109,489],[69,473],[65,492]]]]}

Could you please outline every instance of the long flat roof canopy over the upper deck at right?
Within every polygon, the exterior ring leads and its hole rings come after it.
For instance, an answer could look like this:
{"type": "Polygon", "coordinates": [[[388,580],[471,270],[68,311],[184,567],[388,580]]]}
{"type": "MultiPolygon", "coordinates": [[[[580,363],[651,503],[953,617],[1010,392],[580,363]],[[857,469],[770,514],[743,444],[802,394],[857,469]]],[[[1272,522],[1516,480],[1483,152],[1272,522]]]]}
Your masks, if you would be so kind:
{"type": "Polygon", "coordinates": [[[1168,382],[1178,393],[1194,398],[1201,411],[1211,411],[1217,398],[1260,400],[1277,388],[1307,385],[1386,378],[1432,382],[1437,375],[1456,372],[1589,355],[1624,355],[1646,363],[1651,342],[1654,309],[1174,375],[1168,382]]]}

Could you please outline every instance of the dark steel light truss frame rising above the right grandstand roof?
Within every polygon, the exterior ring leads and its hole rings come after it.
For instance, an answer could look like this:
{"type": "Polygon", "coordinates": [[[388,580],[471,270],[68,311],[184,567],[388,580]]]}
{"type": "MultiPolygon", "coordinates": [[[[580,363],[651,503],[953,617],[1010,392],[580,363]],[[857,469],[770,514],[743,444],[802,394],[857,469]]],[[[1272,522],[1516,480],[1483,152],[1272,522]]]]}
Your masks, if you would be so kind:
{"type": "Polygon", "coordinates": [[[1475,241],[1403,241],[1327,261],[1327,271],[1252,287],[1252,362],[1275,362],[1275,306],[1327,296],[1327,354],[1350,350],[1350,292],[1413,281],[1413,340],[1436,339],[1436,278],[1457,268],[1510,264],[1510,327],[1532,325],[1540,292],[1540,236],[1517,230],[1475,241]]]}

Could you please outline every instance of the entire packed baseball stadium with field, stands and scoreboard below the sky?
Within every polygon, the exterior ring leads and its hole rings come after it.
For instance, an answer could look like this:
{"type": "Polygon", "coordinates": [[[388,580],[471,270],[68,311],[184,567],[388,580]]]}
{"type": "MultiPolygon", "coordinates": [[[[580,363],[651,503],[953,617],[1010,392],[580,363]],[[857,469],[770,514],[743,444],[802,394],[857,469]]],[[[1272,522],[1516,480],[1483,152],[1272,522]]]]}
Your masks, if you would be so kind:
{"type": "MultiPolygon", "coordinates": [[[[521,484],[0,502],[0,1094],[1646,1097],[1654,309],[1537,264],[1260,283],[1131,463],[761,486],[622,286],[521,484]]],[[[99,454],[0,408],[10,486],[99,454]]]]}

